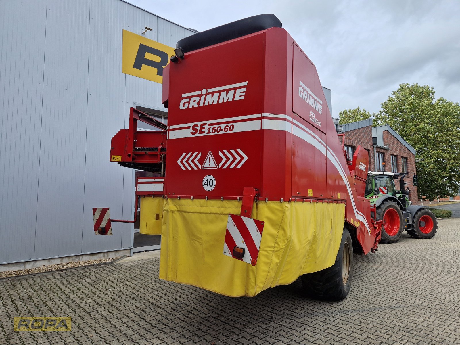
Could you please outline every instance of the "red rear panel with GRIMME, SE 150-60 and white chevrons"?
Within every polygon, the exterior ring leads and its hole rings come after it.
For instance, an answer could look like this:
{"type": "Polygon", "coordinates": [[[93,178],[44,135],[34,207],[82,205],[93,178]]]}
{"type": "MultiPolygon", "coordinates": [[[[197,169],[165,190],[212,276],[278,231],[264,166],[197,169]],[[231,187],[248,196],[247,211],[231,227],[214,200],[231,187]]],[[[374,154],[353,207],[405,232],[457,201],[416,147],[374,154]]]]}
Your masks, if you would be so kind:
{"type": "Polygon", "coordinates": [[[242,196],[243,187],[260,189],[264,56],[264,34],[258,33],[170,64],[168,196],[242,196]]]}

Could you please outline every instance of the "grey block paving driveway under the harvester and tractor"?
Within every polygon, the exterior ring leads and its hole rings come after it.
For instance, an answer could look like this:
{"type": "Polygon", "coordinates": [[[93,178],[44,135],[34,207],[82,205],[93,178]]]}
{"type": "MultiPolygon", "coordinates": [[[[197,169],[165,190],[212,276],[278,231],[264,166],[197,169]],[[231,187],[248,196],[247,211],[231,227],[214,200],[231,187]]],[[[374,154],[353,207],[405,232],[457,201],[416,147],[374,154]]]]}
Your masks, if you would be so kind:
{"type": "Polygon", "coordinates": [[[356,256],[341,302],[299,280],[229,298],[158,279],[159,259],[0,280],[0,344],[460,344],[460,219],[356,256]],[[15,332],[14,316],[70,316],[70,332],[15,332]]]}

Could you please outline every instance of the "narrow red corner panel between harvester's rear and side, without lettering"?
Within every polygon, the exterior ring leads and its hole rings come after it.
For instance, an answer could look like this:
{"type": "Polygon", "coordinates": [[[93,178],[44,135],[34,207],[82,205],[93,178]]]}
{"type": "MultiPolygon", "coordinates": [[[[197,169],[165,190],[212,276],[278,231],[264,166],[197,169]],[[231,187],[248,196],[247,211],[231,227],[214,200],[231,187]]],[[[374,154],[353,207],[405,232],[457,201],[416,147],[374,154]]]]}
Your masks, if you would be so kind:
{"type": "Polygon", "coordinates": [[[288,200],[291,195],[292,44],[284,29],[265,32],[262,199],[288,200]]]}

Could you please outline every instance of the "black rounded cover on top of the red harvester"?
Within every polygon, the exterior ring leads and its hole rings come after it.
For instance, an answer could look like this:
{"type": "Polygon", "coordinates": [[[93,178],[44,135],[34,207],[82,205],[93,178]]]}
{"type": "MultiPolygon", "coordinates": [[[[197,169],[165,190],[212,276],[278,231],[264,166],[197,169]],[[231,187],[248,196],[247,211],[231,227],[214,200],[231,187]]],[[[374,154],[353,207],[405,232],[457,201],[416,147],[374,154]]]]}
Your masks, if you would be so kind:
{"type": "Polygon", "coordinates": [[[182,48],[184,53],[191,52],[273,27],[281,28],[274,14],[259,14],[185,37],[177,42],[176,48],[182,48]]]}

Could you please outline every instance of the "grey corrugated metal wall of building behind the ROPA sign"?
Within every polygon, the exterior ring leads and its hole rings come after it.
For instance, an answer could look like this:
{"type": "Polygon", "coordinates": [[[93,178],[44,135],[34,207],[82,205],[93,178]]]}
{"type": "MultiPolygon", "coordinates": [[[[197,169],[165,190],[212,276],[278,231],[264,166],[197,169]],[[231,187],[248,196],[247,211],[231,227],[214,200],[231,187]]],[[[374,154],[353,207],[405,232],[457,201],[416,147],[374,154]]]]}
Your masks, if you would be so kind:
{"type": "Polygon", "coordinates": [[[188,29],[121,0],[0,1],[0,264],[132,247],[92,207],[132,219],[132,169],[108,161],[134,102],[161,84],[121,73],[122,29],[168,46],[188,29]]]}

